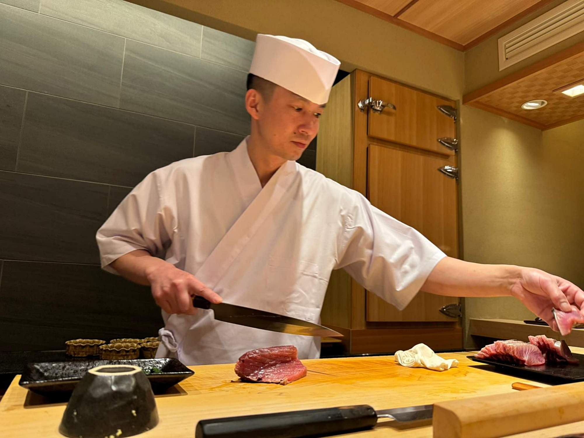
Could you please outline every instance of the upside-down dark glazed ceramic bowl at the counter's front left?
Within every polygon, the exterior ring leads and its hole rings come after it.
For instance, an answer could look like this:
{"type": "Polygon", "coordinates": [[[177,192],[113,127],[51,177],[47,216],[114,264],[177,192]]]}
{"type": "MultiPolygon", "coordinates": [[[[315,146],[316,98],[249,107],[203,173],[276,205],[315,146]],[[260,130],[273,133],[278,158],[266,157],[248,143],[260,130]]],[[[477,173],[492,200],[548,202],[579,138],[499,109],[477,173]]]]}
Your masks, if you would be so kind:
{"type": "Polygon", "coordinates": [[[102,365],[87,371],[75,387],[59,432],[75,438],[120,438],[157,424],[154,394],[142,369],[102,365]]]}

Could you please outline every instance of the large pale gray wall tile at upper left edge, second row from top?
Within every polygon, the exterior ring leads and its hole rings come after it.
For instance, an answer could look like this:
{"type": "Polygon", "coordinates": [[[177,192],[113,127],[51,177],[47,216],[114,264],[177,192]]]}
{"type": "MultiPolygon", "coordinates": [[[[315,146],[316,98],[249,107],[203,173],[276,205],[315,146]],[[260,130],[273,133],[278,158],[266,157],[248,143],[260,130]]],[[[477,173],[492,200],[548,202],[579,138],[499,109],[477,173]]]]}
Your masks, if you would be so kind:
{"type": "Polygon", "coordinates": [[[117,106],[122,37],[0,4],[0,84],[117,106]]]}

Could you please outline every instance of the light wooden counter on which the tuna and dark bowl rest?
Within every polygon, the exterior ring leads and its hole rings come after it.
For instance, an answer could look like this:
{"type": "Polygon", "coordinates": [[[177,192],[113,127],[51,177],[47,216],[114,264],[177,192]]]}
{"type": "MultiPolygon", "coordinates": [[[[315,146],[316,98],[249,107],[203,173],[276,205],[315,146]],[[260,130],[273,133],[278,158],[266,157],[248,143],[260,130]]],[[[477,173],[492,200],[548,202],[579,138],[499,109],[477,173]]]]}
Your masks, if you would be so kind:
{"type": "MultiPolygon", "coordinates": [[[[582,348],[574,352],[584,353],[582,348]]],[[[191,367],[194,376],[156,397],[160,422],[140,437],[194,437],[199,419],[296,409],[369,404],[376,409],[432,404],[457,398],[513,392],[516,381],[534,383],[494,373],[466,356],[471,353],[443,353],[445,359],[460,361],[448,371],[430,371],[399,366],[392,356],[304,360],[307,377],[286,386],[241,383],[233,365],[191,367]]],[[[6,437],[61,437],[58,425],[65,403],[46,400],[18,385],[17,376],[0,401],[0,425],[6,437]]],[[[584,432],[584,422],[557,426],[516,438],[550,437],[584,432]],[[558,431],[558,433],[556,433],[558,431]]],[[[431,437],[430,422],[398,426],[384,421],[377,429],[355,434],[359,437],[431,437]]],[[[343,435],[346,436],[346,435],[343,435]]]]}

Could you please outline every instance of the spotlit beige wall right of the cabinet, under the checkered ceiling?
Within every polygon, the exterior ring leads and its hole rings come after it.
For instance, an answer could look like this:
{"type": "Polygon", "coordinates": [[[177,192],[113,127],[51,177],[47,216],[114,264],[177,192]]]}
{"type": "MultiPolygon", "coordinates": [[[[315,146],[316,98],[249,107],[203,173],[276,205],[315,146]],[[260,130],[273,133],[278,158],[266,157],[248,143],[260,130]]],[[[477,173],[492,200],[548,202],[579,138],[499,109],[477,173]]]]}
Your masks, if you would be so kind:
{"type": "MultiPolygon", "coordinates": [[[[464,259],[584,286],[584,121],[542,132],[463,106],[461,130],[464,259]]],[[[465,299],[467,328],[469,318],[533,317],[513,298],[465,299]]]]}

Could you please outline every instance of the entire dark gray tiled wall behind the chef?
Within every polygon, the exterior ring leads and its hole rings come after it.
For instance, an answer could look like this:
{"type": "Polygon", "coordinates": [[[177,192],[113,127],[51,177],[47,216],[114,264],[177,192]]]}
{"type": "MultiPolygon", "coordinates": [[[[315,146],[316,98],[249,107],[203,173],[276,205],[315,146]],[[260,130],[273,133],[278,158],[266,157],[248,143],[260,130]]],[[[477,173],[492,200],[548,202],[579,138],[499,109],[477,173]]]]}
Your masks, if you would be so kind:
{"type": "Polygon", "coordinates": [[[157,334],[95,232],[148,172],[248,134],[252,53],[123,0],[0,0],[0,351],[157,334]]]}

